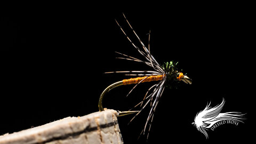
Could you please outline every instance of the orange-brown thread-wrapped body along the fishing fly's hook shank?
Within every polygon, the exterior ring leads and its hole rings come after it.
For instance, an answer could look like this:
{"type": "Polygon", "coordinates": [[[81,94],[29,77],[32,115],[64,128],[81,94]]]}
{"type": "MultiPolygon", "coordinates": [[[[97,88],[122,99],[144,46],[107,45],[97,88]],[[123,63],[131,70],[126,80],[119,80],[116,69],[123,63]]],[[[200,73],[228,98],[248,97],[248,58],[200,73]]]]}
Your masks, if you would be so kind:
{"type": "Polygon", "coordinates": [[[144,76],[144,77],[136,77],[136,78],[130,78],[130,79],[124,79],[123,85],[127,84],[138,84],[142,79],[144,79],[141,83],[144,82],[151,82],[151,81],[161,81],[165,75],[155,75],[155,76],[144,76]]]}

